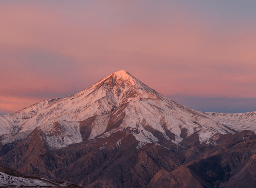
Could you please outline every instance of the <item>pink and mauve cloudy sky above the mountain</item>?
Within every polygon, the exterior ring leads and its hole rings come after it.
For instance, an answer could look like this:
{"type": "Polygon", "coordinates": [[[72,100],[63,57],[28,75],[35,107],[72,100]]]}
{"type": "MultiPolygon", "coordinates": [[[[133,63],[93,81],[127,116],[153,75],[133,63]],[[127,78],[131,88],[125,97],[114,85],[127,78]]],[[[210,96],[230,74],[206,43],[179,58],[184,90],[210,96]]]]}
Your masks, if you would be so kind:
{"type": "Polygon", "coordinates": [[[256,111],[255,7],[255,0],[1,0],[0,115],[119,70],[198,111],[256,111]]]}

